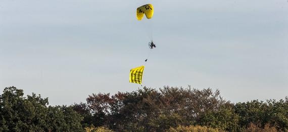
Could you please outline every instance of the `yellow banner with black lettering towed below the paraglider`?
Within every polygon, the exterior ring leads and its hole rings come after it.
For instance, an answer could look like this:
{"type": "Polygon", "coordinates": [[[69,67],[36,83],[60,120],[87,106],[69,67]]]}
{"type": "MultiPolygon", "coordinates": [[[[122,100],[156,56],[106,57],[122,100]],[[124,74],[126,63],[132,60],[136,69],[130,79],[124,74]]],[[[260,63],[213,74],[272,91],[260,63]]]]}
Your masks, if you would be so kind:
{"type": "Polygon", "coordinates": [[[136,67],[130,70],[129,82],[142,84],[142,76],[145,66],[136,67]]]}

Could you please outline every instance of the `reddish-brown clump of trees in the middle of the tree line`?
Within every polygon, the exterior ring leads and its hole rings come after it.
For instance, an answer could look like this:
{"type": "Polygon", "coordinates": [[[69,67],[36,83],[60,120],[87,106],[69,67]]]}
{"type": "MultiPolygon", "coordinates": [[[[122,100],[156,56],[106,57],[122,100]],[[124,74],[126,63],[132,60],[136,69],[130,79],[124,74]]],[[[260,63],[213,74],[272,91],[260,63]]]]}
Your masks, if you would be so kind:
{"type": "Polygon", "coordinates": [[[84,114],[84,117],[92,118],[91,124],[109,126],[116,131],[163,131],[171,126],[197,124],[204,113],[219,111],[222,105],[229,104],[219,91],[168,86],[159,91],[144,87],[112,96],[92,94],[86,100],[87,107],[77,111],[89,109],[91,116],[84,114]]]}

